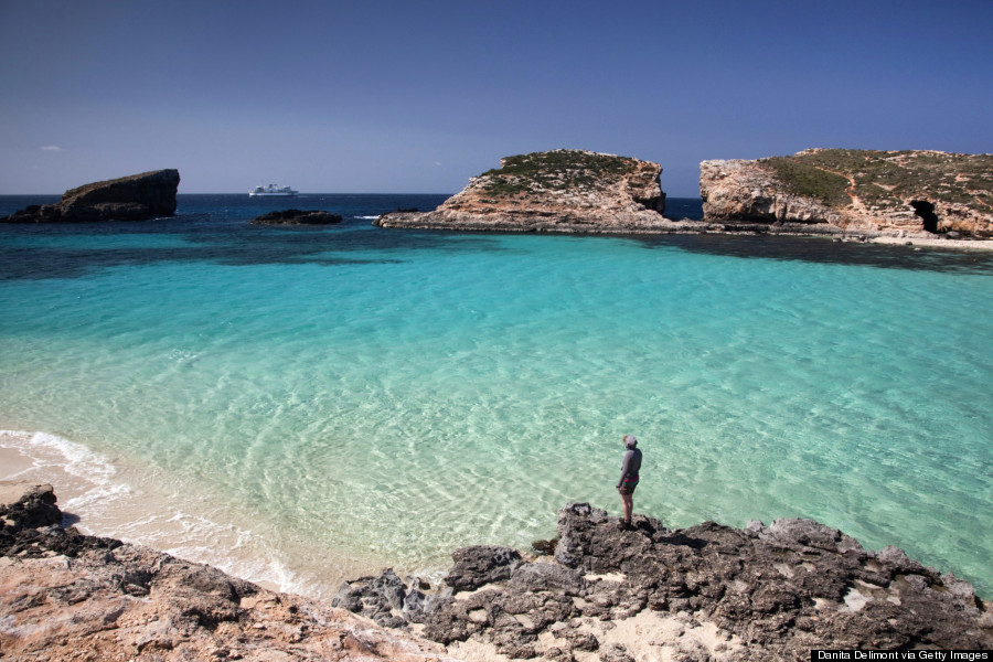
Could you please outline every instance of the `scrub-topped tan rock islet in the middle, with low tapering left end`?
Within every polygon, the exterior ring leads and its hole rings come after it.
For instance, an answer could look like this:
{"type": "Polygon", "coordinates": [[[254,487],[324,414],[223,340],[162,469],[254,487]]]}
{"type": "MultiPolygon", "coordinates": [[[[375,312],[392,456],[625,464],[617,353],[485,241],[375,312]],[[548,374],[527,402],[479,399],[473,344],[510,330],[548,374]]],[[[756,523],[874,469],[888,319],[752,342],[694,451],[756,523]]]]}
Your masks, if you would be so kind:
{"type": "Polygon", "coordinates": [[[640,233],[666,226],[656,163],[584,150],[508,157],[427,213],[383,214],[382,227],[640,233]]]}

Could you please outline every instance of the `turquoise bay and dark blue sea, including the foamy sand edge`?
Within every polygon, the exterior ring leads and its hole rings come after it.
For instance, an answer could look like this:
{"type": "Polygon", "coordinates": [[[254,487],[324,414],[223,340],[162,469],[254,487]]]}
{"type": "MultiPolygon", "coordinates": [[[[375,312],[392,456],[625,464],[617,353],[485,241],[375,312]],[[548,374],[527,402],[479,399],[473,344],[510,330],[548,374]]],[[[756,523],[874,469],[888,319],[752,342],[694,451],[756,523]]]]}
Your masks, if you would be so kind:
{"type": "MultiPolygon", "coordinates": [[[[446,195],[179,195],[0,225],[0,478],[318,598],[556,510],[812,517],[993,598],[993,253],[381,229],[446,195]],[[259,227],[266,211],[340,213],[259,227]]],[[[0,196],[0,215],[57,196],[0,196]]],[[[700,216],[698,200],[669,215],[700,216]]]]}

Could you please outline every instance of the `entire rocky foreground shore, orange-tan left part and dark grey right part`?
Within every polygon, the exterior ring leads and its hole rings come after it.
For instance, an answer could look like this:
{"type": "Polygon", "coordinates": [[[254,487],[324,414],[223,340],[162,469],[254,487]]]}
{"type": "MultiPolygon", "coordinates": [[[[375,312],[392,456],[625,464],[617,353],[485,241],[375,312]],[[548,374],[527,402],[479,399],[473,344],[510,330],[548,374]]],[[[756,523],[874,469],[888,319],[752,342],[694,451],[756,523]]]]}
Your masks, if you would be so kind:
{"type": "Polygon", "coordinates": [[[0,483],[4,659],[746,661],[993,648],[993,605],[971,585],[809,520],[669,530],[636,515],[622,531],[569,504],[534,553],[466,547],[441,587],[386,569],[344,583],[330,607],[62,520],[50,485],[0,483]]]}

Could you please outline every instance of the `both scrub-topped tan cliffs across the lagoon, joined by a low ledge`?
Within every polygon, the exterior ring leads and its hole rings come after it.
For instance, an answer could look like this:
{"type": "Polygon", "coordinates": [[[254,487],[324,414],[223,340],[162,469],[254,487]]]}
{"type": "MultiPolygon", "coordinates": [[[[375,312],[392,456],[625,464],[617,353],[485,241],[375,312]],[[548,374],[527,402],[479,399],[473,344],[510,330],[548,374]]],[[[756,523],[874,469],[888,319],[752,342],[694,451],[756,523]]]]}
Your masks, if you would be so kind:
{"type": "Polygon", "coordinates": [[[704,217],[663,216],[661,166],[583,150],[501,160],[438,209],[375,225],[461,232],[749,234],[991,247],[990,154],[805,150],[704,161],[704,217]],[[936,242],[941,242],[936,243],[936,242]]]}

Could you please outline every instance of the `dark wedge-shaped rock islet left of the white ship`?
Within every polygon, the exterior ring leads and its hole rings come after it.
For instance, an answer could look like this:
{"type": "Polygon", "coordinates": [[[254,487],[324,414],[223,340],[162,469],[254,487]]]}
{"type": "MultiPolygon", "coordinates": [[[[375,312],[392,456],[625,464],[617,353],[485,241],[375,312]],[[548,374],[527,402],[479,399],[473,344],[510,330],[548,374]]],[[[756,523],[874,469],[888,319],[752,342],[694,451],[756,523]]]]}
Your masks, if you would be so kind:
{"type": "Polygon", "coordinates": [[[0,223],[145,221],[175,213],[178,170],[154,170],[71,189],[55,204],[31,205],[0,223]]]}

